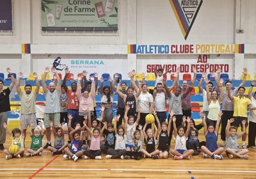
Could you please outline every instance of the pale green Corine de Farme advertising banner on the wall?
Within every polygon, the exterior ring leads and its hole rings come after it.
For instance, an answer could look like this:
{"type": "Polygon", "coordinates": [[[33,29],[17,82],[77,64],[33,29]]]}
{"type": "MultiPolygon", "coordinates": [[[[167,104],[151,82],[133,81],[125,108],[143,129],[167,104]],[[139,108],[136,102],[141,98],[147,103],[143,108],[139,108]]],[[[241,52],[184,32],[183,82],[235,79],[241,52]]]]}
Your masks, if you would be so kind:
{"type": "Polygon", "coordinates": [[[118,0],[41,0],[42,31],[117,31],[118,0]]]}

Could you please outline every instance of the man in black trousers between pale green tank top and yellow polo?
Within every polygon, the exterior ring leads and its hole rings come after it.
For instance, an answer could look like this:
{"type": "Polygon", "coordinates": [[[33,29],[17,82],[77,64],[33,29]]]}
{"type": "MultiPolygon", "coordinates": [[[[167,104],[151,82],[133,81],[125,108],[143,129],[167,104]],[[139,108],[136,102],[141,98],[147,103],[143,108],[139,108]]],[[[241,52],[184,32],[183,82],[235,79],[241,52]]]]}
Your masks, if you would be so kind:
{"type": "MultiPolygon", "coordinates": [[[[246,81],[246,76],[247,76],[247,68],[243,69],[243,74],[244,78],[243,81],[241,82],[240,86],[244,86],[245,81],[246,81]]],[[[221,116],[221,146],[225,146],[225,141],[226,141],[226,134],[225,134],[225,128],[227,127],[228,120],[233,118],[234,114],[234,102],[228,98],[228,88],[230,88],[230,95],[236,97],[238,90],[237,88],[232,89],[232,82],[227,81],[225,82],[226,90],[223,91],[224,97],[223,97],[223,102],[222,102],[222,113],[223,115],[221,116]]]]}

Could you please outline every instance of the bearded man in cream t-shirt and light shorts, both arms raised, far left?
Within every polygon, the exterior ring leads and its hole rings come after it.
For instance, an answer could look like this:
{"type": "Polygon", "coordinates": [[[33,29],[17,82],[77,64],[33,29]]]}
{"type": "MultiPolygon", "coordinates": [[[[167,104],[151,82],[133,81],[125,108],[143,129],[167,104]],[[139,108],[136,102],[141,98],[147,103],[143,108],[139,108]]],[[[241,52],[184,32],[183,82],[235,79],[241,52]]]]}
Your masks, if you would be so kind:
{"type": "MultiPolygon", "coordinates": [[[[16,83],[16,89],[17,93],[19,94],[20,97],[20,122],[23,123],[23,133],[24,133],[24,141],[26,138],[26,132],[28,125],[30,126],[30,123],[33,122],[36,124],[36,108],[35,108],[35,103],[36,103],[36,97],[39,92],[40,84],[38,81],[38,75],[36,73],[33,73],[33,77],[35,78],[36,81],[36,88],[34,92],[32,91],[32,86],[30,84],[26,84],[24,87],[25,92],[20,89],[20,79],[23,77],[23,74],[20,72],[17,83],[16,83]]],[[[33,125],[32,132],[34,132],[36,125],[33,125]]]]}

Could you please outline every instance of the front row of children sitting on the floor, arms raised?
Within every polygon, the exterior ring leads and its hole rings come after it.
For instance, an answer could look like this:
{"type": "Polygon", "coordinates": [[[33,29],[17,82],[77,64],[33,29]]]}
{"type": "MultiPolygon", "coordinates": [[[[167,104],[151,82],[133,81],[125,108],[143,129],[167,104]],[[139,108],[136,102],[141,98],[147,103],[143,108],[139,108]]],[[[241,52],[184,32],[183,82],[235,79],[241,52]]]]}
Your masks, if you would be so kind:
{"type": "MultiPolygon", "coordinates": [[[[76,124],[76,128],[71,128],[72,116],[68,116],[69,124],[68,128],[70,132],[68,137],[70,143],[65,143],[63,129],[61,124],[58,128],[52,127],[52,133],[54,134],[54,146],[48,146],[48,150],[51,151],[52,155],[64,154],[65,159],[72,159],[76,161],[79,157],[84,155],[84,159],[102,159],[101,154],[106,153],[106,159],[136,159],[140,160],[145,157],[152,159],[168,159],[169,153],[171,153],[175,160],[190,159],[191,155],[198,155],[201,151],[205,158],[211,159],[223,159],[221,155],[224,151],[227,157],[232,159],[233,157],[248,159],[247,149],[238,149],[237,139],[241,137],[245,132],[245,121],[243,121],[243,131],[237,134],[237,128],[234,126],[230,127],[230,123],[234,119],[228,121],[226,128],[227,134],[227,146],[225,149],[223,147],[218,147],[218,130],[219,123],[222,113],[218,114],[219,118],[214,128],[213,125],[206,125],[205,114],[200,113],[202,117],[202,123],[204,125],[204,134],[206,139],[206,144],[200,147],[198,141],[198,130],[194,127],[192,119],[189,117],[183,118],[184,123],[187,123],[186,128],[184,125],[176,127],[175,121],[176,117],[170,113],[170,117],[173,121],[173,136],[175,137],[175,148],[170,150],[170,129],[171,121],[166,123],[165,121],[160,124],[156,112],[154,116],[157,121],[157,126],[154,124],[154,130],[152,128],[146,128],[151,123],[147,123],[142,126],[138,125],[140,121],[140,109],[138,110],[138,116],[134,122],[134,116],[127,116],[127,111],[129,111],[129,106],[125,112],[125,123],[124,127],[120,125],[116,126],[120,115],[115,117],[114,125],[112,123],[104,123],[103,127],[100,129],[100,121],[93,119],[91,121],[90,115],[84,117],[84,126],[81,127],[79,123],[76,124]],[[88,119],[87,119],[88,118],[88,119]],[[86,125],[86,120],[88,120],[88,125],[86,125]],[[90,125],[92,124],[92,125],[90,125]],[[102,140],[102,137],[104,140],[102,140]],[[145,143],[145,149],[143,148],[143,138],[145,143]],[[84,144],[84,139],[87,139],[88,145],[84,144]],[[156,148],[158,144],[158,147],[156,148]],[[188,144],[193,146],[193,149],[187,149],[188,144]]],[[[102,110],[104,113],[104,109],[102,110]]],[[[100,116],[100,118],[102,118],[100,116]]],[[[31,123],[31,128],[35,125],[31,123]]],[[[22,127],[22,123],[20,123],[22,127]]],[[[12,144],[17,144],[19,146],[19,151],[17,153],[10,153],[8,150],[4,150],[6,154],[6,159],[12,159],[13,157],[20,158],[24,155],[25,145],[24,145],[24,134],[22,133],[22,128],[14,128],[10,132],[7,128],[6,123],[4,123],[4,128],[12,137],[12,144]]],[[[35,155],[42,155],[42,139],[44,136],[44,128],[42,123],[35,127],[34,132],[31,130],[31,146],[26,150],[26,156],[32,157],[35,155]]]]}

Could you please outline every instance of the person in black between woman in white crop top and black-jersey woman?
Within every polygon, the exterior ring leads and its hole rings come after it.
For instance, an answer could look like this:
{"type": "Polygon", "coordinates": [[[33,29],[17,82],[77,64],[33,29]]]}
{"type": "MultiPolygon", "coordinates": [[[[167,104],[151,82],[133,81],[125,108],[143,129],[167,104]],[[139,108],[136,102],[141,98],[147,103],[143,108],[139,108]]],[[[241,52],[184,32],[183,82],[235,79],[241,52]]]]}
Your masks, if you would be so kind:
{"type": "MultiPolygon", "coordinates": [[[[119,78],[118,73],[115,74],[115,78],[114,78],[114,82],[113,82],[113,88],[116,90],[116,93],[117,93],[117,88],[118,88],[118,87],[116,87],[116,79],[118,79],[118,83],[121,81],[121,79],[119,78]]],[[[121,88],[122,88],[122,89],[121,89],[121,90],[119,89],[119,91],[120,91],[122,94],[124,94],[124,95],[128,95],[128,91],[126,90],[126,86],[127,86],[126,82],[122,82],[122,83],[121,83],[121,88]]],[[[119,88],[120,88],[120,86],[119,86],[119,88]]],[[[118,103],[117,103],[117,113],[116,113],[116,115],[120,114],[120,118],[119,118],[119,120],[117,121],[117,123],[118,123],[117,126],[120,126],[120,125],[122,125],[122,121],[123,121],[123,119],[124,119],[125,100],[124,100],[124,98],[122,98],[122,97],[120,96],[120,93],[117,93],[117,95],[118,95],[118,103]]]]}

